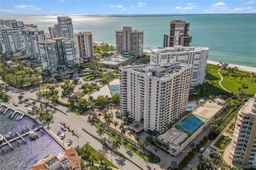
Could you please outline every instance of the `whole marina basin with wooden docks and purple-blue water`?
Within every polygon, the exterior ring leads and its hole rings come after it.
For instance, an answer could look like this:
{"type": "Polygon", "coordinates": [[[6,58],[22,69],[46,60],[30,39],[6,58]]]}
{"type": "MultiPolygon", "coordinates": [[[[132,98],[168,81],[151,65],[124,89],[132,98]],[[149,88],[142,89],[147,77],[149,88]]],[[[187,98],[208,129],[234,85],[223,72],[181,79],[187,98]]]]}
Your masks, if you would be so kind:
{"type": "MultiPolygon", "coordinates": [[[[26,113],[6,104],[0,105],[0,122],[0,163],[11,164],[15,160],[16,164],[25,166],[23,170],[29,170],[45,155],[56,155],[64,150],[26,113]]],[[[1,170],[11,169],[1,167],[1,170]]]]}

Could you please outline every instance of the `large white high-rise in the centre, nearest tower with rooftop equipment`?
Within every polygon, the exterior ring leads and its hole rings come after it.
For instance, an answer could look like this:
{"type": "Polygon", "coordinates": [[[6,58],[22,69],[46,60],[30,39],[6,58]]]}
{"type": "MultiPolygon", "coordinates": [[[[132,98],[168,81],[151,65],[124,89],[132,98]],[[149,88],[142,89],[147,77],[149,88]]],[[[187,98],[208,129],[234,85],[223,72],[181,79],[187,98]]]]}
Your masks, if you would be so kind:
{"type": "Polygon", "coordinates": [[[120,66],[120,105],[144,130],[162,132],[186,110],[191,78],[190,64],[120,66]]]}

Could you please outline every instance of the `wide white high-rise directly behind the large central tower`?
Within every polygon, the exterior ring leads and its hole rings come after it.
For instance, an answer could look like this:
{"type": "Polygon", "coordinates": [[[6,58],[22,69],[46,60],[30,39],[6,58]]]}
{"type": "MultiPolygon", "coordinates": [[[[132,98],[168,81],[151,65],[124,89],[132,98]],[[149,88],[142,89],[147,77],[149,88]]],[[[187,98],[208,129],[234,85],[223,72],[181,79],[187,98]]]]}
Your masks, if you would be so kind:
{"type": "Polygon", "coordinates": [[[206,63],[208,58],[208,47],[158,47],[152,48],[150,53],[150,64],[159,63],[185,63],[192,64],[191,86],[204,82],[206,74],[206,63]]]}

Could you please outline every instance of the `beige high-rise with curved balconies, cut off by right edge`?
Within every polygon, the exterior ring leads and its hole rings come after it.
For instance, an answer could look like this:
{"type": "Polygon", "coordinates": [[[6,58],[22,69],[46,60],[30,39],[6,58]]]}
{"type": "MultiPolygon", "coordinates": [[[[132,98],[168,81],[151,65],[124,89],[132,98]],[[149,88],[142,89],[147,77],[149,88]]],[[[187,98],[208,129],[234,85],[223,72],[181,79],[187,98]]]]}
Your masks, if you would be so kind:
{"type": "Polygon", "coordinates": [[[256,168],[256,94],[238,111],[229,157],[256,168]]]}

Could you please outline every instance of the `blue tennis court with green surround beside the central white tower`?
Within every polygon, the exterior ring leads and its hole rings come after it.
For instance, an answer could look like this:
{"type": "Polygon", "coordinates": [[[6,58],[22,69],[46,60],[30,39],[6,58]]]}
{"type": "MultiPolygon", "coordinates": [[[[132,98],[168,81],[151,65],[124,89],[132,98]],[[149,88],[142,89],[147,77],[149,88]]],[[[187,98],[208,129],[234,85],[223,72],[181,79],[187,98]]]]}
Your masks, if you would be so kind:
{"type": "Polygon", "coordinates": [[[187,133],[193,134],[197,131],[208,119],[199,115],[190,114],[176,125],[176,129],[187,133]]]}

